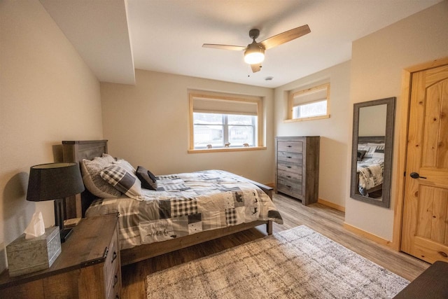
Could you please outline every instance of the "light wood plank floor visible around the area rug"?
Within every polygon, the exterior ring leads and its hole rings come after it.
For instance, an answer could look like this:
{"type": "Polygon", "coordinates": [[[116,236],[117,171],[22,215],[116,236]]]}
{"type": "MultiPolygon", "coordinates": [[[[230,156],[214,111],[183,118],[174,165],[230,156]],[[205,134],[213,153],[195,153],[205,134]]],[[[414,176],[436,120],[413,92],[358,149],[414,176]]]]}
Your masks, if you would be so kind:
{"type": "MultiPolygon", "coordinates": [[[[299,200],[280,194],[274,194],[273,201],[277,209],[279,209],[284,222],[283,225],[274,223],[274,233],[297,225],[307,225],[309,228],[391,270],[391,272],[405,277],[409,281],[414,280],[429,266],[428,263],[422,260],[408,256],[405,253],[393,251],[386,246],[381,246],[345,230],[342,226],[344,222],[344,213],[342,211],[337,211],[318,203],[304,207],[299,200]]],[[[150,258],[133,265],[127,265],[122,268],[122,298],[146,298],[145,281],[146,276],[150,273],[209,256],[212,253],[250,242],[265,235],[265,225],[262,225],[235,235],[150,258]]]]}

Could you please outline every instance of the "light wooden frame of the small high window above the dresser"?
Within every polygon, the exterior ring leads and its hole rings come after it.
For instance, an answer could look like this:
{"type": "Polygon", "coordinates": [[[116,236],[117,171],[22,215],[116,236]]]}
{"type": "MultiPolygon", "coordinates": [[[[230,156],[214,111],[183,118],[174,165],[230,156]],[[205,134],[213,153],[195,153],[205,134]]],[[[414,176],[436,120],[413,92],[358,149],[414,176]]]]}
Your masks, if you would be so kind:
{"type": "MultiPolygon", "coordinates": [[[[304,104],[312,104],[314,102],[321,102],[324,99],[311,99],[308,102],[300,103],[300,105],[304,104]]],[[[296,105],[296,106],[300,106],[296,105]]],[[[325,83],[322,85],[315,86],[313,88],[307,88],[304,90],[297,90],[295,92],[290,92],[289,99],[288,99],[288,119],[286,119],[286,122],[297,122],[297,121],[304,121],[304,120],[318,120],[323,118],[330,118],[330,83],[325,83]],[[322,90],[326,90],[326,97],[325,100],[327,102],[327,113],[325,115],[319,115],[319,116],[309,116],[305,118],[294,118],[294,98],[297,96],[306,96],[311,95],[315,92],[320,92],[322,90]]]]}

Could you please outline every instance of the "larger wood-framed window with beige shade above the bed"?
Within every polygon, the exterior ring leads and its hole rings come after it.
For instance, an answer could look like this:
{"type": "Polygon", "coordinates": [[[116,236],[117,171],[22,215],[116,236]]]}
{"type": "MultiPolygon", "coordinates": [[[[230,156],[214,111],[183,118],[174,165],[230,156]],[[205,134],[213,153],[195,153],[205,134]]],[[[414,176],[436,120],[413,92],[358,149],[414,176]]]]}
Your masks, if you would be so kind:
{"type": "Polygon", "coordinates": [[[262,144],[261,99],[190,93],[190,151],[262,144]]]}

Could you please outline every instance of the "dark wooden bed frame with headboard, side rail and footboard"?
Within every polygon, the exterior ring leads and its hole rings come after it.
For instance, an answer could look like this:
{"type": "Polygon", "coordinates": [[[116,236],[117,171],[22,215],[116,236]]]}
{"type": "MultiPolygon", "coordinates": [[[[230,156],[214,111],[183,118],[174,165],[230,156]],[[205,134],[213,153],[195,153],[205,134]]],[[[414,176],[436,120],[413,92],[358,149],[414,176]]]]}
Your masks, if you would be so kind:
{"type": "MultiPolygon", "coordinates": [[[[92,160],[94,157],[101,156],[102,153],[108,153],[107,140],[62,141],[62,152],[64,162],[80,162],[83,159],[92,160]]],[[[272,199],[273,188],[255,181],[251,181],[251,183],[254,183],[256,186],[261,188],[272,199]]],[[[77,217],[83,217],[85,215],[85,210],[90,206],[94,198],[94,195],[86,189],[76,198],[76,200],[71,201],[73,204],[76,204],[76,207],[72,207],[71,209],[76,211],[77,217]]],[[[185,237],[169,239],[167,241],[151,244],[142,244],[131,249],[124,249],[120,251],[121,264],[129,265],[132,263],[137,263],[140,260],[146,260],[147,258],[160,256],[164,253],[183,249],[202,242],[207,242],[211,239],[217,239],[219,237],[231,235],[235,232],[255,228],[255,226],[262,224],[266,225],[267,235],[272,235],[272,221],[242,223],[239,225],[229,226],[227,228],[220,228],[218,230],[206,230],[204,232],[198,232],[185,237]]]]}

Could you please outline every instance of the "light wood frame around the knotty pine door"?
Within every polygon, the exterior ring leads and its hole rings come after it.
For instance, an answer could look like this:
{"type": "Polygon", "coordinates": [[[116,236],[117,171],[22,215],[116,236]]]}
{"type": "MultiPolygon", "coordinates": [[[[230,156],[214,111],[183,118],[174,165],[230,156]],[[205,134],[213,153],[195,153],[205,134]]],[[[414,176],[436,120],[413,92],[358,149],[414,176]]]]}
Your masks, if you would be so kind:
{"type": "Polygon", "coordinates": [[[411,98],[411,81],[412,74],[424,71],[426,69],[433,69],[435,67],[442,67],[448,65],[448,57],[416,64],[412,67],[403,69],[401,82],[401,115],[400,115],[400,130],[398,130],[398,167],[396,170],[396,177],[398,178],[397,188],[395,191],[395,205],[393,209],[393,237],[390,244],[391,248],[400,251],[401,249],[401,229],[403,218],[403,206],[405,202],[405,170],[407,159],[407,130],[409,127],[409,106],[411,98]]]}

